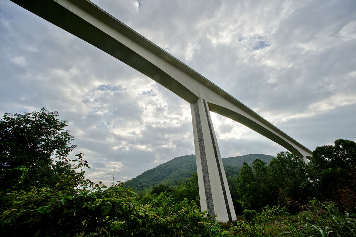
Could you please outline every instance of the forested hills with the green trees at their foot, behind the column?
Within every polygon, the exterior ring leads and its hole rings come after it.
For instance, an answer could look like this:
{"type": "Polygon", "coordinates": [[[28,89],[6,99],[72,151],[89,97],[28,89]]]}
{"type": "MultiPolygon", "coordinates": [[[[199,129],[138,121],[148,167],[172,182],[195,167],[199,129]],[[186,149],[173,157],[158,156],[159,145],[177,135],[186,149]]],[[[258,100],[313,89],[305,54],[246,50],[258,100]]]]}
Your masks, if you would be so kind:
{"type": "MultiPolygon", "coordinates": [[[[236,178],[244,162],[252,165],[257,158],[268,164],[275,157],[263,154],[249,154],[222,158],[231,197],[236,203],[236,211],[241,212],[236,189],[236,178]]],[[[167,191],[168,193],[173,190],[171,195],[175,201],[181,201],[184,198],[193,201],[199,199],[198,179],[195,177],[197,177],[195,155],[186,155],[176,157],[171,161],[149,169],[125,184],[136,189],[142,203],[152,201],[159,193],[156,190],[160,190],[160,192],[167,191]]],[[[199,206],[200,204],[197,202],[197,205],[199,206]]]]}

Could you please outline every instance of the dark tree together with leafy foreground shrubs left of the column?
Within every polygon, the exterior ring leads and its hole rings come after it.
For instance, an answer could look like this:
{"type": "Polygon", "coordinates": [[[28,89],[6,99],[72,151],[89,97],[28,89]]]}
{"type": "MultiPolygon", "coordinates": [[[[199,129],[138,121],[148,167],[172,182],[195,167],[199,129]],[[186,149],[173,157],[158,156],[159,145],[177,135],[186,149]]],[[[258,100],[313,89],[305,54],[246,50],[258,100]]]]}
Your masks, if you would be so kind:
{"type": "Polygon", "coordinates": [[[85,179],[88,162],[83,153],[67,157],[73,136],[57,116],[42,108],[0,120],[0,236],[220,234],[194,200],[160,193],[143,205],[123,183],[106,188],[85,179]]]}

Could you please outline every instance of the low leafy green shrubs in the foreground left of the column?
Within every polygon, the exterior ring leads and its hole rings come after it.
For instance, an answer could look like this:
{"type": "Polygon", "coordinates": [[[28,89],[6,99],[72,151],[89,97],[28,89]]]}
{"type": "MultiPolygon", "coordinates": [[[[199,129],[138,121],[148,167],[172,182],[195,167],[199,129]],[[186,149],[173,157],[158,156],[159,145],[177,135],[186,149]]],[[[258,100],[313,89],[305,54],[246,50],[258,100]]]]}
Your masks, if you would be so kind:
{"type": "Polygon", "coordinates": [[[2,199],[1,236],[217,236],[220,225],[194,201],[159,194],[147,205],[120,183],[108,189],[33,187],[2,199]]]}

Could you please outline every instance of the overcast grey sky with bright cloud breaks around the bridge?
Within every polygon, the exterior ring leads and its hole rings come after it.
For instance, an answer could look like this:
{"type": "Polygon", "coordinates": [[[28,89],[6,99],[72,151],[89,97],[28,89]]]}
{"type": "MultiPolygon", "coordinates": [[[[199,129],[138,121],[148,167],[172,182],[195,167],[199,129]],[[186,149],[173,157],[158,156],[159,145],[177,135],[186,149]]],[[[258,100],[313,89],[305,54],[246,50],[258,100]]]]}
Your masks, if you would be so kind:
{"type": "MultiPolygon", "coordinates": [[[[356,140],[355,0],[93,2],[310,150],[356,140]]],[[[92,181],[195,153],[187,102],[7,0],[0,62],[0,113],[59,111],[92,181]]],[[[211,116],[222,157],[286,150],[211,116]]]]}

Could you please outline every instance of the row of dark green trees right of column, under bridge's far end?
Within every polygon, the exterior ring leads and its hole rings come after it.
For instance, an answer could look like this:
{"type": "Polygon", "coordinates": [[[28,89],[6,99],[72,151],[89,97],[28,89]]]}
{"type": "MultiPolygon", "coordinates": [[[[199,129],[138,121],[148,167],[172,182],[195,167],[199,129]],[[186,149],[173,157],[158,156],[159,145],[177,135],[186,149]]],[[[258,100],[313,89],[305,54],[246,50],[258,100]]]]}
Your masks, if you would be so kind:
{"type": "Polygon", "coordinates": [[[241,167],[239,200],[244,209],[256,211],[282,204],[295,212],[314,197],[355,208],[355,166],[356,143],[344,139],[316,147],[308,165],[289,152],[279,153],[268,166],[257,159],[252,167],[241,167]]]}

